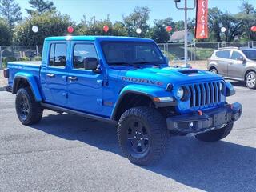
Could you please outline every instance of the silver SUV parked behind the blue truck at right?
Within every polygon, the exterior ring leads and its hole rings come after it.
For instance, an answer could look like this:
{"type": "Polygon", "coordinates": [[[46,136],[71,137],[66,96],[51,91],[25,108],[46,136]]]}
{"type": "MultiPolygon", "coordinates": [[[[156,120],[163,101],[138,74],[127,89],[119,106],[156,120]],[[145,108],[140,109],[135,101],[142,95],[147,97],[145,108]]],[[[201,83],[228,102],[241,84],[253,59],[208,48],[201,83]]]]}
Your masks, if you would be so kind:
{"type": "Polygon", "coordinates": [[[214,51],[207,69],[225,78],[246,82],[256,89],[256,48],[226,47],[214,51]]]}

